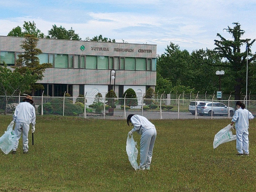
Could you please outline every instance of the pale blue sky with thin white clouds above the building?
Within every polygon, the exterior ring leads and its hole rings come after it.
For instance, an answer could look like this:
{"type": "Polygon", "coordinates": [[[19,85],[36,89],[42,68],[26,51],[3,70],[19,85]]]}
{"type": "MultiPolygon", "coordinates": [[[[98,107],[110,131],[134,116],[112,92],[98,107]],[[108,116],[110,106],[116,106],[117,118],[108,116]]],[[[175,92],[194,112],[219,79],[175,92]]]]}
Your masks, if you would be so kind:
{"type": "Polygon", "coordinates": [[[156,44],[158,55],[172,42],[191,53],[214,49],[217,33],[231,40],[225,28],[233,22],[245,31],[243,39],[255,39],[256,0],[0,0],[0,36],[24,21],[34,21],[44,35],[55,24],[72,27],[82,40],[102,35],[156,44]]]}

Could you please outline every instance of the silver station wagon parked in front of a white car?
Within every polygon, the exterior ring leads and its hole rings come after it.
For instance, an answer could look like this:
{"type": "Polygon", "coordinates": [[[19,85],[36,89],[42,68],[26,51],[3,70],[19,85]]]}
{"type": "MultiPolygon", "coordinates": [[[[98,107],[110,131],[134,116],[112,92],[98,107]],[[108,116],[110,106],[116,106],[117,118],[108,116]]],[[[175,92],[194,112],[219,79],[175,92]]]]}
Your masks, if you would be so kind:
{"type": "MultiPolygon", "coordinates": [[[[228,106],[219,102],[200,102],[196,107],[197,113],[199,115],[208,115],[208,116],[224,116],[228,115],[228,106]]],[[[235,109],[229,107],[230,116],[232,117],[235,114],[235,109]]]]}

